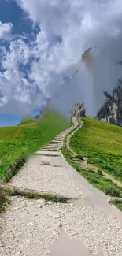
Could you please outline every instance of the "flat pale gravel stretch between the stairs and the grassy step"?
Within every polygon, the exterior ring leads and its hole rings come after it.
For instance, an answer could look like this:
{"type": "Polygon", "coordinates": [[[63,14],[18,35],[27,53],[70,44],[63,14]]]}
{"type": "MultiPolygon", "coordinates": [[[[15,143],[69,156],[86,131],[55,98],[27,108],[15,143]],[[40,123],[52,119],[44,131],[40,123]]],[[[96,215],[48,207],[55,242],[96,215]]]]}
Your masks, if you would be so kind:
{"type": "Polygon", "coordinates": [[[82,196],[82,185],[72,179],[68,169],[51,165],[24,165],[11,183],[16,187],[46,191],[70,197],[82,196]]]}

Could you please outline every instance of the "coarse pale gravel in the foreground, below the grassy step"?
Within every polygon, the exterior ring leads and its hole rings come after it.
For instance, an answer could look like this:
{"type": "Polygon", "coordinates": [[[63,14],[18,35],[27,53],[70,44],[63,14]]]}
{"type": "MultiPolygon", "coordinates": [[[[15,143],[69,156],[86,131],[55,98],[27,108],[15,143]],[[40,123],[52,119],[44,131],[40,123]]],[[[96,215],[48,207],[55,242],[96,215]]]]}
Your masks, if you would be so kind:
{"type": "MultiPolygon", "coordinates": [[[[58,239],[62,227],[68,239],[82,241],[92,254],[101,249],[105,256],[121,256],[120,223],[98,210],[95,213],[90,206],[51,202],[48,205],[43,200],[13,198],[6,213],[6,229],[1,235],[1,255],[50,255],[50,245],[58,239]]],[[[70,248],[68,252],[71,253],[70,248]]]]}

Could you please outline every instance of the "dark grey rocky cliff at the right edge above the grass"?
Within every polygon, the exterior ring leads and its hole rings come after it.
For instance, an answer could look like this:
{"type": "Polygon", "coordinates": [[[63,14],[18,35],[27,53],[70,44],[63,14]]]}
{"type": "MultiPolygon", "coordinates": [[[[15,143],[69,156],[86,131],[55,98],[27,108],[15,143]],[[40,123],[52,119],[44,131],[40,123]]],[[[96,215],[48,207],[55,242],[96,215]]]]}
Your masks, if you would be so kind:
{"type": "Polygon", "coordinates": [[[110,95],[107,91],[104,94],[107,102],[98,111],[97,117],[95,118],[122,126],[122,80],[119,80],[119,85],[113,91],[113,94],[110,95]]]}

